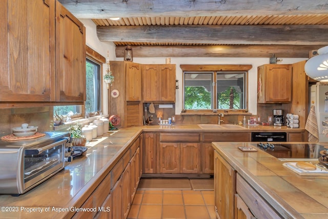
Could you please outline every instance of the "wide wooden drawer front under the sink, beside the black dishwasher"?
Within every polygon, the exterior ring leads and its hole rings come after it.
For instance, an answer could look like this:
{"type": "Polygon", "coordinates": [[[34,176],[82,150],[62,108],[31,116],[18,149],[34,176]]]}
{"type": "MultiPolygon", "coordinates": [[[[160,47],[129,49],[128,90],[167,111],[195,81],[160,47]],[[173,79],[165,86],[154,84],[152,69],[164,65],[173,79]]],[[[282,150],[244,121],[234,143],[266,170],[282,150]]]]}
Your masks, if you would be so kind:
{"type": "Polygon", "coordinates": [[[250,142],[251,132],[203,133],[204,142],[250,142]]]}

